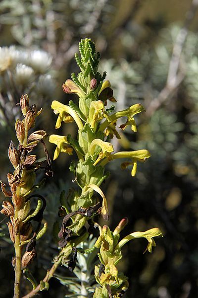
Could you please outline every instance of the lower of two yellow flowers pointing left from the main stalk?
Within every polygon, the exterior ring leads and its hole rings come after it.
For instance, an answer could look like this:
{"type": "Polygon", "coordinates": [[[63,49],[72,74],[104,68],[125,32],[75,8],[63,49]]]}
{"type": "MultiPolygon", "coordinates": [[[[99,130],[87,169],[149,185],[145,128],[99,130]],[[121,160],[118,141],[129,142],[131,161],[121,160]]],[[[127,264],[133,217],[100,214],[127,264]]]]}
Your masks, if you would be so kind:
{"type": "Polygon", "coordinates": [[[68,147],[67,138],[64,136],[51,135],[49,136],[49,142],[55,144],[57,147],[54,151],[53,160],[55,160],[60,152],[72,154],[73,149],[68,147]]]}

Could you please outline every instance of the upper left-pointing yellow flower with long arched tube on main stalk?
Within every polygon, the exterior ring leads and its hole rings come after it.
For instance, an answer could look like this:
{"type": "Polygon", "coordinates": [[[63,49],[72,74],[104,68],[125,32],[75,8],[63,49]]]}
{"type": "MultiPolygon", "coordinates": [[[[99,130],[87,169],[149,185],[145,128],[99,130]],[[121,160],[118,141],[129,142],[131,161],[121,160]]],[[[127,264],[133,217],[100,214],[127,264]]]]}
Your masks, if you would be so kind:
{"type": "Polygon", "coordinates": [[[51,103],[51,108],[54,110],[54,113],[56,115],[60,114],[56,121],[55,128],[60,127],[61,121],[71,122],[72,119],[76,122],[79,129],[83,128],[83,124],[82,124],[80,117],[77,115],[77,113],[71,107],[62,104],[57,100],[53,100],[51,103]],[[69,115],[71,116],[71,118],[68,118],[69,115]]]}

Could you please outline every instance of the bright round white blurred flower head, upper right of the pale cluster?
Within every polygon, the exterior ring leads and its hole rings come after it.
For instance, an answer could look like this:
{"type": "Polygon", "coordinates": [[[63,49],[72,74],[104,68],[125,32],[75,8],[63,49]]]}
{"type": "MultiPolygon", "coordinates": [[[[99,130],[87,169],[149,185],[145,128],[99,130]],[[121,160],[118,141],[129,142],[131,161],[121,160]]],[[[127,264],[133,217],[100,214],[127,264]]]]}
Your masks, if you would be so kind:
{"type": "Polygon", "coordinates": [[[44,51],[35,50],[30,53],[30,65],[38,73],[44,74],[50,67],[52,57],[44,51]]]}

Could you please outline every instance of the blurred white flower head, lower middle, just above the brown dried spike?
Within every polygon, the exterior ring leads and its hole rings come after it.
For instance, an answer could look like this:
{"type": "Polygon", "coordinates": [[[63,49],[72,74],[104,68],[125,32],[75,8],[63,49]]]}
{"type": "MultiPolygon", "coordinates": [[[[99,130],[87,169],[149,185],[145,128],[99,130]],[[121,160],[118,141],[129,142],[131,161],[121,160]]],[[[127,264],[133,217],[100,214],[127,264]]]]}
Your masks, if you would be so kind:
{"type": "Polygon", "coordinates": [[[25,64],[19,63],[14,72],[14,80],[16,84],[30,84],[34,80],[34,70],[25,64]]]}

